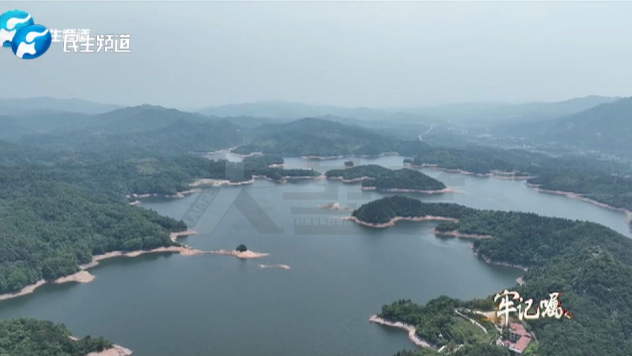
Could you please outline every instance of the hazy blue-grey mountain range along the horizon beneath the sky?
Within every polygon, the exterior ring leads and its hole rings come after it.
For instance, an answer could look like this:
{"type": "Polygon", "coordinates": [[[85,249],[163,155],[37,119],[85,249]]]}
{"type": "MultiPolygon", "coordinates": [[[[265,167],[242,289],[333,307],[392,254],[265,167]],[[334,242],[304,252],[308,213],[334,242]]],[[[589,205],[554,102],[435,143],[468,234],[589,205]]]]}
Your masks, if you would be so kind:
{"type": "MultiPolygon", "coordinates": [[[[229,121],[232,126],[228,132],[241,130],[240,137],[252,144],[242,147],[243,150],[284,154],[326,155],[330,151],[370,154],[389,146],[384,142],[387,139],[415,140],[423,134],[424,140],[427,135],[435,135],[441,142],[442,135],[461,132],[458,126],[478,127],[471,132],[489,132],[498,137],[518,137],[536,143],[556,142],[581,149],[629,152],[631,113],[631,98],[600,96],[560,102],[449,104],[405,109],[270,101],[207,107],[198,113],[161,106],[119,107],[80,99],[40,97],[0,99],[0,140],[18,141],[40,133],[133,134],[160,130],[178,122],[181,125],[185,121],[201,125],[200,132],[208,132],[206,126],[214,123],[214,127],[219,128],[229,121]],[[310,119],[300,120],[304,118],[310,119]],[[344,132],[348,127],[351,127],[349,132],[344,132]],[[370,137],[370,133],[379,137],[370,137]],[[293,139],[288,140],[289,137],[293,139]],[[346,147],[340,147],[341,137],[348,140],[346,147]],[[264,145],[264,142],[267,143],[264,145]]],[[[468,135],[466,132],[459,135],[468,135]]],[[[232,137],[228,142],[240,140],[232,137]]]]}

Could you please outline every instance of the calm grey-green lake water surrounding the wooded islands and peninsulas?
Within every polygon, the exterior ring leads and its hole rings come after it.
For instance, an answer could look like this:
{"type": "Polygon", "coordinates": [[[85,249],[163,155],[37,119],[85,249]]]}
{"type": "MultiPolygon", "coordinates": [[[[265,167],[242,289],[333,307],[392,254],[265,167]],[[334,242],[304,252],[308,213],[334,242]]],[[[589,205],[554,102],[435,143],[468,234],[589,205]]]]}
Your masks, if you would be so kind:
{"type": "MultiPolygon", "coordinates": [[[[401,167],[402,160],[354,159],[389,168],[401,167]]],[[[289,158],[286,166],[324,172],[343,161],[289,158]]],[[[410,196],[586,219],[630,236],[622,213],[538,193],[522,181],[422,171],[461,193],[410,196]]],[[[138,356],[391,356],[413,345],[403,331],[368,323],[381,305],[399,298],[423,303],[439,295],[485,297],[521,275],[480,261],[469,241],[432,235],[435,223],[402,221],[377,230],[335,219],[349,212],[319,208],[332,202],[357,207],[381,196],[339,181],[257,180],[183,199],[145,200],[142,207],[190,224],[198,235],[181,242],[192,247],[234,249],[245,243],[270,256],[111,259],[90,269],[92,283],[46,285],[1,302],[0,318],[64,322],[77,336],[102,335],[138,356]]]]}

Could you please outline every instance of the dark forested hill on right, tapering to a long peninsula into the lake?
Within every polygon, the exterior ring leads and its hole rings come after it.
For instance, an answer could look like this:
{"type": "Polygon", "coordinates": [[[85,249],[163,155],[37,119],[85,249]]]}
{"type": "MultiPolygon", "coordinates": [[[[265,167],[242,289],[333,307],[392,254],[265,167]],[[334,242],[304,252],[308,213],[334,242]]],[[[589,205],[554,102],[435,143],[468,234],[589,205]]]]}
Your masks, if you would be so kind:
{"type": "MultiPolygon", "coordinates": [[[[406,197],[375,200],[353,214],[376,222],[394,215],[451,214],[447,216],[458,217],[459,222],[439,224],[437,230],[492,236],[475,241],[478,255],[491,262],[529,267],[523,276],[525,284],[515,286],[516,290],[535,300],[561,292],[564,308],[573,312],[572,320],[527,322],[539,341],[537,355],[632,353],[632,240],[605,226],[524,212],[424,204],[406,197]]],[[[489,291],[490,295],[496,292],[489,291]]],[[[405,322],[415,317],[400,315],[405,322]]],[[[419,324],[442,322],[441,318],[416,320],[419,324]]]]}

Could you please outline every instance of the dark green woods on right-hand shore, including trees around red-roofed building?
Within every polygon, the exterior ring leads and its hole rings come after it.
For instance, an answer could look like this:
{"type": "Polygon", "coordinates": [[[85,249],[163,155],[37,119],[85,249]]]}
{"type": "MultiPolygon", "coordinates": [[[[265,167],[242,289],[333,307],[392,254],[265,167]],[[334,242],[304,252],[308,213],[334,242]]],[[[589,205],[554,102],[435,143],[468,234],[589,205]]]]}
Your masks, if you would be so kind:
{"type": "MultiPolygon", "coordinates": [[[[394,211],[409,212],[410,217],[413,211],[437,211],[438,204],[425,204],[408,197],[384,197],[363,204],[353,214],[364,216],[365,223],[379,221],[384,224],[394,211]]],[[[455,211],[458,209],[450,207],[455,211]]],[[[564,307],[576,315],[573,322],[560,322],[554,328],[549,328],[549,323],[527,322],[530,331],[537,335],[538,354],[627,355],[632,350],[629,340],[623,339],[614,345],[609,338],[626,328],[626,322],[632,317],[631,305],[625,298],[603,298],[604,290],[626,295],[632,290],[631,239],[597,223],[528,212],[465,208],[459,215],[458,221],[444,221],[435,227],[434,232],[479,237],[474,239],[471,249],[482,261],[525,272],[516,279],[514,287],[521,295],[542,300],[548,298],[550,291],[559,291],[565,296],[564,307]],[[599,287],[595,288],[593,281],[599,281],[599,287]],[[614,310],[616,313],[612,314],[614,310]],[[611,313],[611,317],[602,319],[599,317],[602,313],[611,313]],[[576,350],[583,351],[578,353],[576,350]]],[[[474,341],[468,338],[457,340],[465,334],[452,332],[464,328],[458,321],[447,318],[447,313],[452,314],[454,307],[494,310],[495,304],[492,296],[466,302],[439,297],[425,306],[400,300],[384,305],[378,316],[408,324],[416,329],[417,335],[437,346],[448,345],[452,352],[455,349],[449,345],[455,342],[468,343],[470,347],[489,347],[487,337],[477,336],[474,341]],[[437,316],[437,310],[442,310],[446,318],[437,316]]],[[[465,314],[481,322],[477,317],[465,314]]],[[[470,324],[470,321],[464,322],[470,324]]],[[[481,324],[486,325],[485,322],[481,324]]]]}

